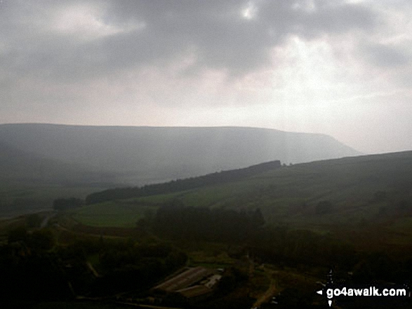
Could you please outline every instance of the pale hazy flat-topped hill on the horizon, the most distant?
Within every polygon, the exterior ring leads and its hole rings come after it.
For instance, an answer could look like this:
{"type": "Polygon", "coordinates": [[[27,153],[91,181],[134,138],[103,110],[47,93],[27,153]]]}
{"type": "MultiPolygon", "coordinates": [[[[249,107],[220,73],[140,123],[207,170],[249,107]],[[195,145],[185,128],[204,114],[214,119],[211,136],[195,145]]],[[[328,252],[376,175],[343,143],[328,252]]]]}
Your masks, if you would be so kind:
{"type": "Polygon", "coordinates": [[[142,185],[270,160],[301,163],[359,155],[332,137],[260,128],[0,125],[0,142],[37,156],[116,173],[142,185]]]}

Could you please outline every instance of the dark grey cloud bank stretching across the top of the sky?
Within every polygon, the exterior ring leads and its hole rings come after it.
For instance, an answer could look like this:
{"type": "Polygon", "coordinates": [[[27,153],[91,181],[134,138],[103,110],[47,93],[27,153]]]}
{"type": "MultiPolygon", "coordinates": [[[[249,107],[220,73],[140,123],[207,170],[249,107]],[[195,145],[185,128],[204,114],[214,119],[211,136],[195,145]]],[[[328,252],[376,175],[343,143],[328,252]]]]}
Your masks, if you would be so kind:
{"type": "MultiPolygon", "coordinates": [[[[6,71],[74,81],[114,71],[171,61],[195,50],[193,69],[226,69],[239,75],[270,63],[268,51],[289,34],[313,38],[325,33],[369,29],[376,19],[364,6],[340,1],[253,1],[255,15],[243,18],[249,1],[4,1],[0,18],[6,71]],[[126,29],[95,39],[62,34],[49,25],[70,5],[102,7],[97,18],[126,29]]],[[[75,21],[74,21],[75,22],[75,21]]]]}

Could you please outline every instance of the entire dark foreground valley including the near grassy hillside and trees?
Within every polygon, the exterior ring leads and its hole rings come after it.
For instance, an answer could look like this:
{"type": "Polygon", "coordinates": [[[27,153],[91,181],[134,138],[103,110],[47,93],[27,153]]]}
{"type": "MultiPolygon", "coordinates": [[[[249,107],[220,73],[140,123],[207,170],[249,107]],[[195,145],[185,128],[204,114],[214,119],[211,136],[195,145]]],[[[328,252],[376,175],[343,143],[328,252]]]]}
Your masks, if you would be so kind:
{"type": "MultiPolygon", "coordinates": [[[[84,195],[84,205],[3,221],[3,259],[14,252],[17,265],[53,263],[60,285],[30,298],[40,309],[51,301],[69,308],[324,308],[315,291],[331,269],[341,284],[408,282],[412,151],[267,164],[110,188],[84,195]],[[152,291],[187,267],[222,277],[194,298],[152,291]]],[[[333,308],[364,301],[337,300],[333,308]]],[[[408,308],[410,298],[367,304],[408,308]]]]}

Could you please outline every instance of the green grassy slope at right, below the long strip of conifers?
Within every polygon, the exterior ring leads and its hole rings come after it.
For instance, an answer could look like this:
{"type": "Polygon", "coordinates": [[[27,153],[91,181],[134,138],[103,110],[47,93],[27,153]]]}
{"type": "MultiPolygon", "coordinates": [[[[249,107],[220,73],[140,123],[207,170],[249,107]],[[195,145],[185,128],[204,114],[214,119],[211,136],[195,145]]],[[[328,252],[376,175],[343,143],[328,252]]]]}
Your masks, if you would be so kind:
{"type": "Polygon", "coordinates": [[[379,226],[390,241],[405,242],[412,238],[412,151],[281,167],[241,181],[86,206],[75,218],[102,225],[104,207],[113,224],[124,226],[132,217],[121,217],[132,212],[133,203],[135,214],[140,207],[172,204],[260,208],[268,224],[324,232],[379,226]]]}

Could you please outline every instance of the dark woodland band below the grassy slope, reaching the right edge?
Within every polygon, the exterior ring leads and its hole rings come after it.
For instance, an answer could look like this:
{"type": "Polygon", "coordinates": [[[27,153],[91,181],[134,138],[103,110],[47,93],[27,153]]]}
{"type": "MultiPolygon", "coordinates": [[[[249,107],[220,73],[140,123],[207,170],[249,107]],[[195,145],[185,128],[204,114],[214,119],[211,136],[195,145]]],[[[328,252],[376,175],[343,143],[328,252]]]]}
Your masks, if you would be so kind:
{"type": "Polygon", "coordinates": [[[248,253],[263,263],[335,266],[346,274],[352,272],[352,280],[358,282],[402,282],[412,276],[410,250],[405,256],[359,252],[331,233],[265,226],[259,209],[236,211],[167,205],[160,207],[151,220],[139,224],[169,239],[237,243],[244,247],[243,254],[248,253]]]}

